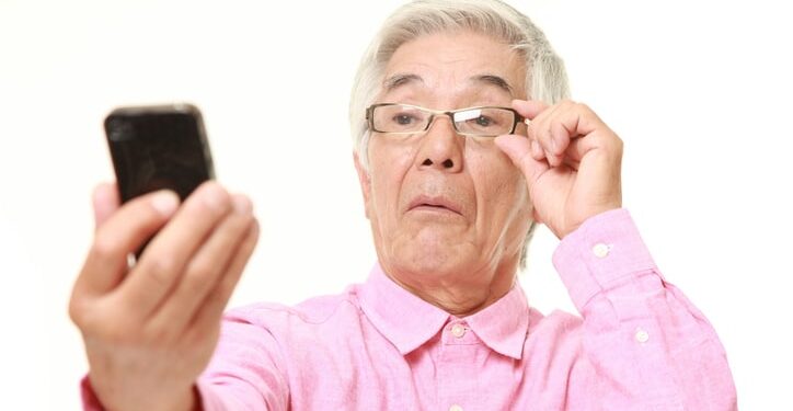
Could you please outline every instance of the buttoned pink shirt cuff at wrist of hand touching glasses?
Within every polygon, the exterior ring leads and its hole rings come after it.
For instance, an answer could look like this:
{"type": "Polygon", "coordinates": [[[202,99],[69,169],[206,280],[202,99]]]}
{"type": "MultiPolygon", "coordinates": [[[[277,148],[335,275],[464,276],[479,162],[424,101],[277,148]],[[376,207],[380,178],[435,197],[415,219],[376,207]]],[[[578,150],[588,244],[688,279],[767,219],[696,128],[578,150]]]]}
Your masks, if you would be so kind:
{"type": "MultiPolygon", "coordinates": [[[[553,265],[578,312],[597,294],[625,277],[654,271],[655,262],[624,208],[588,218],[553,253],[553,265]]],[[[663,279],[663,278],[662,278],[663,279]]]]}

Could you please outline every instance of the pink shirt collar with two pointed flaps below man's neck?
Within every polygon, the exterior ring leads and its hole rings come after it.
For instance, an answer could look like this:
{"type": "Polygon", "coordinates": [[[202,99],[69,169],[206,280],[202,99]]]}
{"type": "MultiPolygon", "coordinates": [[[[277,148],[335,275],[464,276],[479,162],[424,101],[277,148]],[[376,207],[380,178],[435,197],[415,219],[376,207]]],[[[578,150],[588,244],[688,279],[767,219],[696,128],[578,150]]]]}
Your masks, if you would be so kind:
{"type": "MultiPolygon", "coordinates": [[[[360,287],[360,307],[402,355],[426,343],[451,317],[394,283],[380,264],[375,264],[360,287]]],[[[491,350],[520,359],[529,328],[529,308],[519,285],[462,320],[491,350]]]]}

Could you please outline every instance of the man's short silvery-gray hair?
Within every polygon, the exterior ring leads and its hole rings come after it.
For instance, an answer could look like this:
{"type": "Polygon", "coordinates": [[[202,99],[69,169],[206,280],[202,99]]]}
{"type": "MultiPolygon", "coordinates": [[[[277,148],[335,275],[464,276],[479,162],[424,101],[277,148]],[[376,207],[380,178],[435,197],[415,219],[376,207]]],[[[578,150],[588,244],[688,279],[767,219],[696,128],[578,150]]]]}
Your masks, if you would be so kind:
{"type": "MultiPolygon", "coordinates": [[[[440,32],[472,31],[506,42],[526,59],[526,95],[550,104],[570,96],[564,62],[553,52],[545,35],[526,15],[499,0],[416,0],[396,9],[364,53],[353,82],[349,100],[349,126],[355,152],[368,169],[370,133],[366,107],[381,91],[384,69],[394,52],[416,37],[440,32]]],[[[531,224],[520,254],[526,266],[531,224]]]]}

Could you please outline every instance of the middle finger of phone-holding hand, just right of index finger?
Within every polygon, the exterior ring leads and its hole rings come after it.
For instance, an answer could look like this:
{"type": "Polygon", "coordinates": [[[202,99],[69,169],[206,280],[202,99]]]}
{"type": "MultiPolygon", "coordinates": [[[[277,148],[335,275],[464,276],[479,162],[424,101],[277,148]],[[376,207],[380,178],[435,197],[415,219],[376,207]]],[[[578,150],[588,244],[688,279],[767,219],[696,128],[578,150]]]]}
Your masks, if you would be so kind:
{"type": "Polygon", "coordinates": [[[124,305],[149,318],[179,282],[193,254],[231,210],[229,194],[219,184],[202,184],[171,221],[147,246],[119,287],[124,305]]]}

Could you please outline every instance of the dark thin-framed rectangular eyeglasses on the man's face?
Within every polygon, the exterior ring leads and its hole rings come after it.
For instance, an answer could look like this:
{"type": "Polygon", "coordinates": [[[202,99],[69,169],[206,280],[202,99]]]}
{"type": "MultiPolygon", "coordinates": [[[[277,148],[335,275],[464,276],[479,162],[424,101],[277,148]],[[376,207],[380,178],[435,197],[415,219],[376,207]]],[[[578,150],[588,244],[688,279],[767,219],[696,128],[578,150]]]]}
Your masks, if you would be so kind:
{"type": "Polygon", "coordinates": [[[377,133],[415,134],[429,129],[438,115],[449,116],[455,132],[462,136],[496,137],[513,134],[524,117],[513,109],[481,106],[450,112],[417,105],[382,103],[366,110],[369,129],[377,133]]]}

